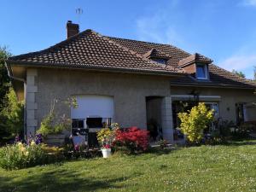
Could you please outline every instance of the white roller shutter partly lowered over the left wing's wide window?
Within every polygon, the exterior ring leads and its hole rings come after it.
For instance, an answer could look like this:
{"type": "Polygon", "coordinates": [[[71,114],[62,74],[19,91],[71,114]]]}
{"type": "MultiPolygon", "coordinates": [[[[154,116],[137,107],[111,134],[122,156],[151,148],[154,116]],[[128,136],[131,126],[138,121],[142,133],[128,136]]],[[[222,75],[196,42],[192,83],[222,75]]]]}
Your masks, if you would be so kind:
{"type": "Polygon", "coordinates": [[[113,96],[76,96],[78,108],[71,108],[72,119],[101,117],[113,119],[113,96]]]}

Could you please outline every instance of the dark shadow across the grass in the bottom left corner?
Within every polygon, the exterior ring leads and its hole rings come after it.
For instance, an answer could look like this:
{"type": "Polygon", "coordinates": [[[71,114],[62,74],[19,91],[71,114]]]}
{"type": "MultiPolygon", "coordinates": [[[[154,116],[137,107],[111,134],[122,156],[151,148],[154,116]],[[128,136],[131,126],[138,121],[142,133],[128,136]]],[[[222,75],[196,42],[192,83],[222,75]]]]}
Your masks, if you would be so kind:
{"type": "MultiPolygon", "coordinates": [[[[15,172],[14,172],[15,173],[15,172]]],[[[98,180],[95,177],[82,177],[76,170],[50,171],[33,173],[32,176],[15,179],[13,177],[0,176],[0,191],[95,191],[97,189],[119,189],[117,183],[128,177],[116,177],[112,179],[98,180]],[[21,178],[21,179],[20,179],[21,178]]]]}

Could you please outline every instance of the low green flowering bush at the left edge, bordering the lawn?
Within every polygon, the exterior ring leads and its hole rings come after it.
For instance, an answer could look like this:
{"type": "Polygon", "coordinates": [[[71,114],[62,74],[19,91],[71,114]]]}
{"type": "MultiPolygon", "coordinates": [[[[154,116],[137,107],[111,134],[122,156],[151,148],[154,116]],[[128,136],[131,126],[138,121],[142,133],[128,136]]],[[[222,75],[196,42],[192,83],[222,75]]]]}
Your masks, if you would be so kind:
{"type": "Polygon", "coordinates": [[[30,145],[15,143],[0,148],[0,166],[6,170],[44,165],[61,159],[61,149],[34,142],[30,145]]]}

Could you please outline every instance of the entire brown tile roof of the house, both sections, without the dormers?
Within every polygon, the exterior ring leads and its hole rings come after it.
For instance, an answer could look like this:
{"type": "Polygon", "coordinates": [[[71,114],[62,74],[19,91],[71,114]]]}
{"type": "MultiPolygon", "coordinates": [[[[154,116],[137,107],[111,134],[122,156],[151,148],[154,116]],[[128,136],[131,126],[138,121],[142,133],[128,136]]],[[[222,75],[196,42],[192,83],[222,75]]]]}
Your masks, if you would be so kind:
{"type": "MultiPolygon", "coordinates": [[[[170,44],[154,44],[125,38],[112,38],[102,36],[92,30],[86,30],[60,44],[49,47],[49,49],[14,56],[9,58],[7,62],[20,65],[108,69],[172,75],[173,73],[183,73],[178,63],[186,58],[211,61],[200,54],[190,55],[188,52],[170,44]],[[162,58],[168,57],[166,65],[150,61],[147,58],[150,55],[157,55],[162,58]]],[[[189,75],[183,75],[172,80],[172,84],[256,87],[252,81],[241,79],[236,74],[213,64],[209,64],[209,73],[210,81],[198,81],[189,75]]]]}

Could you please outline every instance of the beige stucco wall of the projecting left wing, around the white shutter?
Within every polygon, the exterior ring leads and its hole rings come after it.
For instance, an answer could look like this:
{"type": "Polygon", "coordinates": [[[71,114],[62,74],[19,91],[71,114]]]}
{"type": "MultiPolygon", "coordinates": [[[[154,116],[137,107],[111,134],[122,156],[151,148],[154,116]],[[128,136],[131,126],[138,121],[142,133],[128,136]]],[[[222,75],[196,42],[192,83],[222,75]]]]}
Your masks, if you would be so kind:
{"type": "MultiPolygon", "coordinates": [[[[49,113],[50,102],[74,95],[113,96],[114,122],[146,128],[146,96],[170,96],[170,78],[126,73],[96,73],[67,69],[39,69],[36,118],[40,125],[49,113]]],[[[70,116],[70,109],[56,104],[70,116]]]]}

